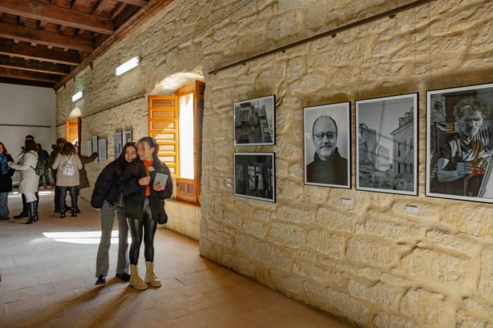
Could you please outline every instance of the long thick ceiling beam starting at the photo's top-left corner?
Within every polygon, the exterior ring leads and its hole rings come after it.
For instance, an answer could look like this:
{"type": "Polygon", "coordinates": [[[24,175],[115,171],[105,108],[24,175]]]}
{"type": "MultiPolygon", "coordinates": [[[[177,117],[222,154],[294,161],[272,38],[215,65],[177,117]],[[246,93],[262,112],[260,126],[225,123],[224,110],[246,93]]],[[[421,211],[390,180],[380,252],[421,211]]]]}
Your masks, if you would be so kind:
{"type": "Polygon", "coordinates": [[[113,33],[113,23],[108,18],[39,1],[0,0],[0,11],[34,20],[46,20],[48,23],[56,25],[81,28],[103,34],[113,33]]]}

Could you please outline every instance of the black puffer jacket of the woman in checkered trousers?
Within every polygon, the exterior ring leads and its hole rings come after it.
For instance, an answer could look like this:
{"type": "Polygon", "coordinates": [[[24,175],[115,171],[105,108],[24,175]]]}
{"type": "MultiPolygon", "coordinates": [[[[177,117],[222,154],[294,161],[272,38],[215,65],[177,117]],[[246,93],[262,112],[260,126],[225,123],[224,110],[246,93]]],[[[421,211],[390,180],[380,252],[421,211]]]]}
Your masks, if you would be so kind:
{"type": "Polygon", "coordinates": [[[91,206],[93,208],[103,207],[104,201],[108,201],[111,205],[118,201],[120,188],[118,187],[118,175],[116,174],[117,162],[118,158],[106,165],[99,173],[91,196],[91,206]]]}

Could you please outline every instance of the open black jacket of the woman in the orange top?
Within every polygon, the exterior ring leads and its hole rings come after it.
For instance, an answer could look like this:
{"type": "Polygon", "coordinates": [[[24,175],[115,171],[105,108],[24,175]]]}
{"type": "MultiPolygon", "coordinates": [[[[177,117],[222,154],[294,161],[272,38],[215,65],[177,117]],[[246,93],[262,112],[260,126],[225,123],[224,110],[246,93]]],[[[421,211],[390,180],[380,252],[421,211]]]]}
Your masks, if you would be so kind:
{"type": "MultiPolygon", "coordinates": [[[[164,210],[164,200],[170,198],[173,194],[173,181],[171,180],[170,169],[166,164],[161,163],[159,160],[154,160],[152,167],[154,168],[154,171],[151,172],[151,182],[149,183],[151,189],[151,196],[149,196],[149,198],[151,201],[152,219],[161,219],[161,222],[166,223],[168,215],[166,215],[166,211],[164,210]],[[155,191],[152,187],[154,186],[156,172],[168,175],[168,182],[166,182],[166,188],[163,191],[155,191]]],[[[132,219],[142,220],[144,201],[146,198],[146,186],[141,186],[139,184],[139,179],[146,176],[144,163],[140,160],[135,160],[127,165],[118,180],[125,202],[125,215],[132,219]]]]}

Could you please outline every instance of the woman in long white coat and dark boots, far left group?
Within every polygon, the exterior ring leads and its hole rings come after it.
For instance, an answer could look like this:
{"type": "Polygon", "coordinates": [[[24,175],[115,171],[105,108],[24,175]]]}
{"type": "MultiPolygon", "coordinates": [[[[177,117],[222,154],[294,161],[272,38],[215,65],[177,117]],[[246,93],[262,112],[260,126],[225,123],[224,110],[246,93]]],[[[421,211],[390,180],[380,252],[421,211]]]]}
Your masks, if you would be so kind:
{"type": "Polygon", "coordinates": [[[20,171],[19,192],[24,194],[29,213],[29,220],[26,225],[38,220],[35,210],[36,193],[39,184],[39,175],[36,174],[37,164],[37,144],[34,140],[26,140],[24,151],[20,154],[18,163],[8,162],[9,168],[20,171]]]}

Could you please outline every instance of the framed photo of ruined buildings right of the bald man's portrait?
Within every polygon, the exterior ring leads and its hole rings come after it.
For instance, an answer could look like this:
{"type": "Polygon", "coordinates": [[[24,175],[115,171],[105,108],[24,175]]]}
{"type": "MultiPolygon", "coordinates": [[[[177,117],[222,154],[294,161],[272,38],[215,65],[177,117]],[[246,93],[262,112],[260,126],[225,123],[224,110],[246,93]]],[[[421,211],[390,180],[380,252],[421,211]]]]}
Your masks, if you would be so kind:
{"type": "Polygon", "coordinates": [[[418,94],[356,101],[356,189],[418,195],[418,94]]]}

